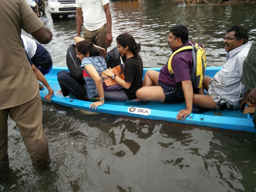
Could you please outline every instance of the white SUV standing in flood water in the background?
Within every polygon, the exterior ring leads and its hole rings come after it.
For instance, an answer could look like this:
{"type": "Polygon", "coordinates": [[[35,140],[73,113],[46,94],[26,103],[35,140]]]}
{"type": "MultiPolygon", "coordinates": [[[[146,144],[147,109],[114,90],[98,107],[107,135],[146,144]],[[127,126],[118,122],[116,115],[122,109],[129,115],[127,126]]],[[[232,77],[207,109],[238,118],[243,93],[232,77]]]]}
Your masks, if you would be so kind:
{"type": "Polygon", "coordinates": [[[48,0],[52,20],[60,19],[60,15],[76,14],[76,0],[48,0]]]}

